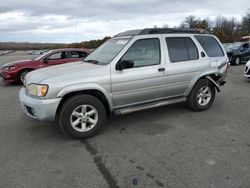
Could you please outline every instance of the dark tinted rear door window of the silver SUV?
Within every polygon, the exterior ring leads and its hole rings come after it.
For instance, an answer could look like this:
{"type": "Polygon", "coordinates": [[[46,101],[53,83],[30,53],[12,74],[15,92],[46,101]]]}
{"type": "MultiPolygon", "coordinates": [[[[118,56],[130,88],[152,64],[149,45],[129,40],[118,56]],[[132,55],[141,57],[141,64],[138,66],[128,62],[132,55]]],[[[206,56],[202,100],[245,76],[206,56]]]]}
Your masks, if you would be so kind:
{"type": "Polygon", "coordinates": [[[198,50],[189,37],[166,38],[172,63],[199,59],[198,50]]]}

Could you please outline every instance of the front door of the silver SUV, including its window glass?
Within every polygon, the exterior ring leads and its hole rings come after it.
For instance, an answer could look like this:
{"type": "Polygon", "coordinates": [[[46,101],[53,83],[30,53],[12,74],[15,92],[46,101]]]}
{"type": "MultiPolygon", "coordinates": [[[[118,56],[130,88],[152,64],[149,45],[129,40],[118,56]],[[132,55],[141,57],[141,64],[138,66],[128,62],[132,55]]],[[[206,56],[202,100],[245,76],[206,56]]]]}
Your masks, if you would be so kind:
{"type": "Polygon", "coordinates": [[[111,73],[115,107],[138,105],[161,99],[166,94],[165,61],[161,57],[161,39],[138,39],[120,61],[134,65],[111,73]]]}

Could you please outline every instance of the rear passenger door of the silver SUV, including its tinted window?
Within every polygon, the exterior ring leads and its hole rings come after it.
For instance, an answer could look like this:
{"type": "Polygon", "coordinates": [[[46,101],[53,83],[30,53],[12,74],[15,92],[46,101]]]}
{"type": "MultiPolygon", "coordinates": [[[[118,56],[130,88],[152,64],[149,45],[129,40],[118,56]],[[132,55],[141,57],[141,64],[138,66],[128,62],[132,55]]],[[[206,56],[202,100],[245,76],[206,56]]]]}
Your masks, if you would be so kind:
{"type": "Polygon", "coordinates": [[[168,53],[167,61],[167,96],[183,96],[192,80],[207,67],[208,61],[201,54],[193,36],[164,35],[168,53]],[[202,61],[201,61],[202,59],[202,61]]]}

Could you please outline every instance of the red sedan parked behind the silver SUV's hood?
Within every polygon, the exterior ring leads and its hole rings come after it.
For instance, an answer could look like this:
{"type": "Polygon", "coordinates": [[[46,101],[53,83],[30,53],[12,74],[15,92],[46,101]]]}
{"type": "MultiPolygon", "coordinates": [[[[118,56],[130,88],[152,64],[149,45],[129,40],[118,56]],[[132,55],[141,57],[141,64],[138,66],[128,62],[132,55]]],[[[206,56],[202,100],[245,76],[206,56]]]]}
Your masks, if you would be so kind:
{"type": "Polygon", "coordinates": [[[22,83],[25,75],[32,70],[81,61],[90,53],[91,51],[87,49],[66,48],[51,50],[36,59],[15,61],[3,65],[0,69],[0,76],[7,82],[22,83]]]}

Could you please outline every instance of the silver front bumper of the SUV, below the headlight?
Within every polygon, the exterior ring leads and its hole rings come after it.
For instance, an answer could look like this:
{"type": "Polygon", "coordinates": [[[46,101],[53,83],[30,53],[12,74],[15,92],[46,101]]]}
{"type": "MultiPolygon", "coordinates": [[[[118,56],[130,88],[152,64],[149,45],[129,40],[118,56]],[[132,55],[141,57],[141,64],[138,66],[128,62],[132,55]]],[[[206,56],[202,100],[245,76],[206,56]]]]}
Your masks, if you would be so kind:
{"type": "Polygon", "coordinates": [[[26,95],[25,88],[19,92],[19,100],[24,112],[38,120],[54,121],[61,98],[36,99],[26,95]]]}

